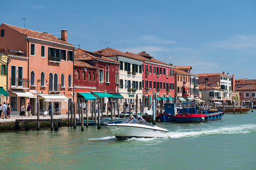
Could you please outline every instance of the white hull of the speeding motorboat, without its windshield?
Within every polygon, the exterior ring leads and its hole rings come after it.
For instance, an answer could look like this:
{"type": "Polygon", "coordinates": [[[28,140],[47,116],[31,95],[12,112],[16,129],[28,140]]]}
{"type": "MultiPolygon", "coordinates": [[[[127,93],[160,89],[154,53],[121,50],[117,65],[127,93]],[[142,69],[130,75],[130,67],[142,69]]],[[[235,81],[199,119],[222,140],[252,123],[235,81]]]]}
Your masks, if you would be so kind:
{"type": "Polygon", "coordinates": [[[157,126],[155,128],[149,128],[138,124],[108,124],[107,127],[119,139],[131,137],[168,137],[168,130],[157,126]]]}

